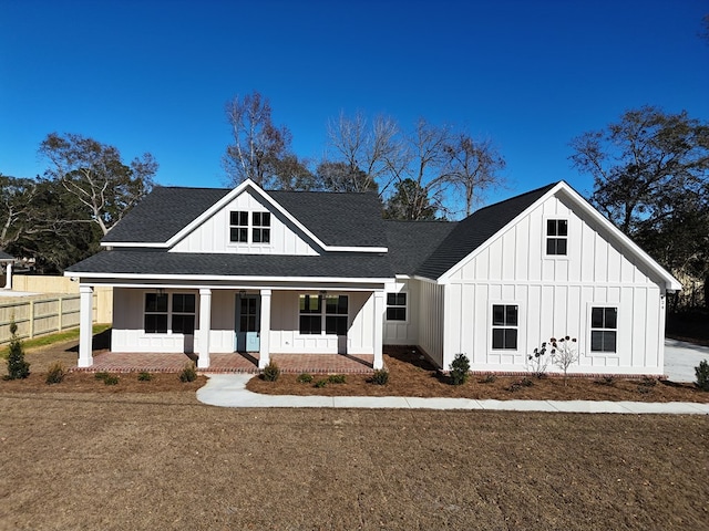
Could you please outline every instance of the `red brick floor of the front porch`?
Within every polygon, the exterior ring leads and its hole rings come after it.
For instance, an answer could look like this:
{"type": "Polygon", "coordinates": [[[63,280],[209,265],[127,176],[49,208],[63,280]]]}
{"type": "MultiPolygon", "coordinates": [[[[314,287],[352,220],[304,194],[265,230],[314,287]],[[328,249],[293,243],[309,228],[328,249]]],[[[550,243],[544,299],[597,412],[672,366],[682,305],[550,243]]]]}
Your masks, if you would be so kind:
{"type": "MultiPolygon", "coordinates": [[[[201,373],[258,373],[258,354],[210,354],[209,368],[201,373]]],[[[284,373],[372,373],[374,356],[343,354],[271,354],[271,360],[284,373]]],[[[194,354],[142,354],[102,352],[93,357],[93,365],[74,371],[129,373],[145,371],[148,373],[178,373],[194,354]]]]}

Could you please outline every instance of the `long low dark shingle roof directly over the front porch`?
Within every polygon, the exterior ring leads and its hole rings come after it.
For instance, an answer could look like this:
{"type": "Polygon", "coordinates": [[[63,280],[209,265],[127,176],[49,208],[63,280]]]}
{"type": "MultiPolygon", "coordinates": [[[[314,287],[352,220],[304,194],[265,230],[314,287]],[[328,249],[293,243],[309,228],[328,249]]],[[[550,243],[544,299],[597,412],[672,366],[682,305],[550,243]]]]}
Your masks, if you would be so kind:
{"type": "Polygon", "coordinates": [[[176,274],[206,277],[392,278],[389,257],[379,253],[323,256],[186,253],[151,250],[102,251],[66,269],[71,273],[176,274]]]}

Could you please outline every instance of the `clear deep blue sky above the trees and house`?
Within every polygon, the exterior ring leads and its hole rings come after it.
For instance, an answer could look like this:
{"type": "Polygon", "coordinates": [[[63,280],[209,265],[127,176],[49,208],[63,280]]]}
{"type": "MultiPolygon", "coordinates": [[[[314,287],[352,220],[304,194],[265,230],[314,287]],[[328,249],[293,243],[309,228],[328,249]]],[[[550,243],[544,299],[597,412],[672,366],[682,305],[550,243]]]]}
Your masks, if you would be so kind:
{"type": "MultiPolygon", "coordinates": [[[[569,140],[645,104],[709,121],[705,0],[0,0],[0,173],[78,133],[162,185],[226,185],[224,104],[259,91],[300,157],[340,112],[490,137],[507,197],[565,179],[569,140]]],[[[495,199],[495,197],[491,198],[495,199]]]]}

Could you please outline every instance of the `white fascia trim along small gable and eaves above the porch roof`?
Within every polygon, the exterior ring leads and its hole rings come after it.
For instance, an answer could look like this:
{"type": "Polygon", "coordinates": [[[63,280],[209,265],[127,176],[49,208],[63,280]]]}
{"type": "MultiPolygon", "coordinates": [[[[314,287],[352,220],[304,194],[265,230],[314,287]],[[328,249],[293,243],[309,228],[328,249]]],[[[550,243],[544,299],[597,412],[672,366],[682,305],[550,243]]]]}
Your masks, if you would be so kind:
{"type": "Polygon", "coordinates": [[[230,202],[235,197],[240,195],[246,188],[250,188],[255,194],[258,194],[261,199],[268,202],[274,209],[278,210],[282,216],[288,218],[288,220],[302,230],[309,238],[312,239],[321,249],[325,251],[333,251],[333,252],[388,252],[388,248],[386,247],[339,247],[339,246],[327,246],[322,240],[320,240],[316,235],[314,235],[305,225],[302,225],[296,217],[294,217],[288,210],[280,206],[278,201],[276,201],[273,197],[270,197],[266,191],[261,189],[256,183],[251,179],[246,179],[244,183],[238,185],[232,191],[229,191],[226,196],[215,202],[207,210],[202,212],[202,215],[197,216],[189,225],[185,226],[182,230],[179,230],[175,236],[164,242],[150,242],[150,243],[133,243],[133,242],[107,242],[101,243],[103,247],[138,247],[138,248],[155,248],[155,249],[169,249],[175,246],[178,241],[185,238],[189,232],[195,230],[202,223],[204,223],[207,219],[214,216],[217,211],[224,208],[228,202],[230,202]]]}

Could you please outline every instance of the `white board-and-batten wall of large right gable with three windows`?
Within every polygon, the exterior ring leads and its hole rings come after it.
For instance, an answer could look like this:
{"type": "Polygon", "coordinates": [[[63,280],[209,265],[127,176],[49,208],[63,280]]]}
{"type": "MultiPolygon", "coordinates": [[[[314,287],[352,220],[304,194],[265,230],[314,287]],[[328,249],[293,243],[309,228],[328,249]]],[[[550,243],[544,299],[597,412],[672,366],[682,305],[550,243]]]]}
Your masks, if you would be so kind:
{"type": "Polygon", "coordinates": [[[604,227],[549,197],[449,275],[442,366],[462,352],[472,371],[524,371],[542,342],[569,335],[580,353],[569,373],[661,374],[665,292],[650,274],[604,227]],[[545,254],[547,219],[568,221],[564,257],[545,254]],[[493,304],[518,306],[515,351],[492,348],[493,304]],[[594,306],[618,309],[614,353],[590,351],[594,306]]]}

